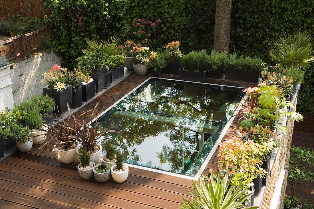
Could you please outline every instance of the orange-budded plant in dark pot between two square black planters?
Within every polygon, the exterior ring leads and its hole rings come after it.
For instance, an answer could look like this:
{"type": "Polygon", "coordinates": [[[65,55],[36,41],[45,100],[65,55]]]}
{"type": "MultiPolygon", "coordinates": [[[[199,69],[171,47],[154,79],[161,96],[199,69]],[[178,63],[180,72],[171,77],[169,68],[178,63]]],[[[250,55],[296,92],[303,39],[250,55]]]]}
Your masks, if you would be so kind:
{"type": "Polygon", "coordinates": [[[66,68],[62,69],[62,76],[65,79],[65,83],[72,86],[72,104],[71,108],[81,107],[83,104],[82,97],[82,79],[79,76],[79,72],[76,68],[72,71],[68,71],[66,68]]]}

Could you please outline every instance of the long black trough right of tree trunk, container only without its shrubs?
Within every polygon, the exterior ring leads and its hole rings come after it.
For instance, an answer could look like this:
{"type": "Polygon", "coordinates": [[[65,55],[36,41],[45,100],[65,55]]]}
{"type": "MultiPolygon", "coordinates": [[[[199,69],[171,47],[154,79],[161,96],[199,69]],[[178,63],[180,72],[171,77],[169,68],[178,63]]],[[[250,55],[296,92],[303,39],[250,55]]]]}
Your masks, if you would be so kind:
{"type": "Polygon", "coordinates": [[[260,72],[255,70],[235,70],[226,68],[226,80],[258,83],[260,72]]]}

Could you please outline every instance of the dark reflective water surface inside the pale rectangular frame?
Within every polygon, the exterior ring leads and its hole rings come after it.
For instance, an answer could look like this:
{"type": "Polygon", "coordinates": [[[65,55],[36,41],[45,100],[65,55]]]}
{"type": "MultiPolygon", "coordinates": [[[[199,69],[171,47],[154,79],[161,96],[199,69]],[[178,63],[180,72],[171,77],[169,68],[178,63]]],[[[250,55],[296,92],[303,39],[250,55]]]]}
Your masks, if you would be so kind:
{"type": "Polygon", "coordinates": [[[242,88],[150,78],[101,115],[127,163],[194,176],[244,96],[242,88]]]}

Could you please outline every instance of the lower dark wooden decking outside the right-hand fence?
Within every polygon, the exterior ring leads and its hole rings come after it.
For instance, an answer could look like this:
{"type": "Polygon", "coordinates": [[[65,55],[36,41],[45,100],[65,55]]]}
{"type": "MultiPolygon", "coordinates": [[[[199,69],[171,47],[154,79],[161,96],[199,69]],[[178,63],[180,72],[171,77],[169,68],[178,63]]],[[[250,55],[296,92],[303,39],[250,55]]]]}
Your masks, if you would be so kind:
{"type": "MultiPolygon", "coordinates": [[[[295,122],[292,145],[306,147],[314,150],[314,115],[302,114],[304,119],[301,122],[295,122]]],[[[314,172],[314,169],[312,169],[314,172]]],[[[292,187],[287,184],[286,195],[291,195],[292,187]]],[[[311,199],[311,204],[314,205],[314,182],[298,184],[295,188],[295,196],[301,200],[302,204],[305,198],[311,199]]]]}

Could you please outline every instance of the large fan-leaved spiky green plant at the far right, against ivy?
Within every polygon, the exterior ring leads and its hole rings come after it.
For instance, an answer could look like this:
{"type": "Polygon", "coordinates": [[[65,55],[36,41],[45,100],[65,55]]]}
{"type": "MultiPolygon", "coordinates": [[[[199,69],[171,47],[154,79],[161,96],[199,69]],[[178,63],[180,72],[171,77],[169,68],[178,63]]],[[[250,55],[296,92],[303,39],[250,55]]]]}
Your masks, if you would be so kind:
{"type": "Polygon", "coordinates": [[[270,59],[287,67],[307,68],[314,61],[313,38],[306,32],[284,34],[270,49],[270,59]]]}

